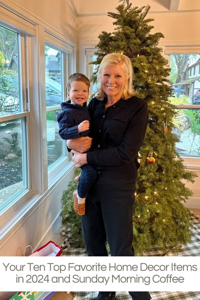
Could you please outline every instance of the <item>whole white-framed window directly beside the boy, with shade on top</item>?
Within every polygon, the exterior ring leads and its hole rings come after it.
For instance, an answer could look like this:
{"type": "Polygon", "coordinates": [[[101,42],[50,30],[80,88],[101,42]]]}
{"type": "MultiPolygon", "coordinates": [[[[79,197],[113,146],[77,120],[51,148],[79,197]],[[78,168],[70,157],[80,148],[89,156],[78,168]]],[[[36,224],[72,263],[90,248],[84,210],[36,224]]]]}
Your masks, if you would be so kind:
{"type": "Polygon", "coordinates": [[[57,116],[67,100],[68,74],[74,73],[73,47],[45,32],[45,92],[48,185],[70,161],[66,141],[59,136],[57,116]]]}

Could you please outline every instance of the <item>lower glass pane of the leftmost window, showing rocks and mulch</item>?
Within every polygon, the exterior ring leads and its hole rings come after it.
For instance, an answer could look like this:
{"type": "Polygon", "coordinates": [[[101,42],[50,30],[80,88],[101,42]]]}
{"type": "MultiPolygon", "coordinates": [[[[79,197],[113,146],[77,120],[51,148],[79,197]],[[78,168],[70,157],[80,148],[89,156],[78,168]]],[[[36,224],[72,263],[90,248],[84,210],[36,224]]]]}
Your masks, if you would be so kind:
{"type": "Polygon", "coordinates": [[[27,187],[25,118],[0,122],[0,209],[27,187]]]}

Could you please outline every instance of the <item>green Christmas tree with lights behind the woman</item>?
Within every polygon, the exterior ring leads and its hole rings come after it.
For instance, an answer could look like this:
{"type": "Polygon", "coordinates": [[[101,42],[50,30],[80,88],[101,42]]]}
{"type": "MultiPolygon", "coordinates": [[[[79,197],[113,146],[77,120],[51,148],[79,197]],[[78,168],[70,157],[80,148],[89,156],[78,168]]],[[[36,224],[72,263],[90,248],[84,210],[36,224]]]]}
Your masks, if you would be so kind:
{"type": "Polygon", "coordinates": [[[149,6],[131,6],[119,5],[115,13],[108,13],[115,19],[113,25],[116,27],[112,33],[99,35],[97,59],[93,62],[97,67],[92,81],[96,82],[98,65],[106,54],[119,52],[130,58],[133,89],[149,107],[148,128],[140,149],[136,182],[133,246],[136,254],[156,246],[164,251],[167,247],[177,247],[178,250],[190,241],[192,235],[191,214],[183,202],[193,193],[181,180],[194,182],[196,174],[186,170],[175,149],[178,138],[172,133],[172,121],[176,112],[168,101],[173,96],[168,85],[170,68],[158,47],[164,36],[160,32],[150,34],[154,26],[149,25],[153,19],[146,18],[149,6]]]}

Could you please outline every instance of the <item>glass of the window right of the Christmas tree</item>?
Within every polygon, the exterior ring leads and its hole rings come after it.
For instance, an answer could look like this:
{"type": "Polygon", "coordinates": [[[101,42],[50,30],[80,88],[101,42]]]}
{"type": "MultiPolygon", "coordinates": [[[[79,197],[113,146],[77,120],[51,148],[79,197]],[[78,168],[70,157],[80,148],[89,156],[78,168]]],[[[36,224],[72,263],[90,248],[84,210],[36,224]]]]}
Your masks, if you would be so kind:
{"type": "Polygon", "coordinates": [[[177,107],[173,132],[180,139],[176,148],[181,156],[200,157],[199,62],[199,54],[170,55],[170,83],[174,97],[169,101],[177,107]],[[185,105],[186,109],[179,108],[179,105],[185,105]],[[196,105],[196,109],[191,105],[196,105]]]}

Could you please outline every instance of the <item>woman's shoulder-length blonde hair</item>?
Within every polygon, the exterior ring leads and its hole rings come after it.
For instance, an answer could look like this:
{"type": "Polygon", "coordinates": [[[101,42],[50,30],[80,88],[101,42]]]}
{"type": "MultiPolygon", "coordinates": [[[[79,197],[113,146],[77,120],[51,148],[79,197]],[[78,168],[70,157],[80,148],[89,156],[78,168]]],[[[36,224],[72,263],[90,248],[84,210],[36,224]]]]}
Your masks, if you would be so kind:
{"type": "Polygon", "coordinates": [[[122,98],[125,100],[137,94],[137,92],[133,91],[132,88],[133,67],[130,59],[128,58],[128,56],[124,54],[111,53],[103,57],[99,66],[99,70],[97,74],[97,83],[98,83],[98,88],[96,92],[97,99],[101,100],[106,98],[106,93],[103,91],[101,86],[101,76],[102,76],[103,69],[119,63],[122,64],[124,74],[127,77],[127,82],[125,88],[123,89],[122,98]]]}

